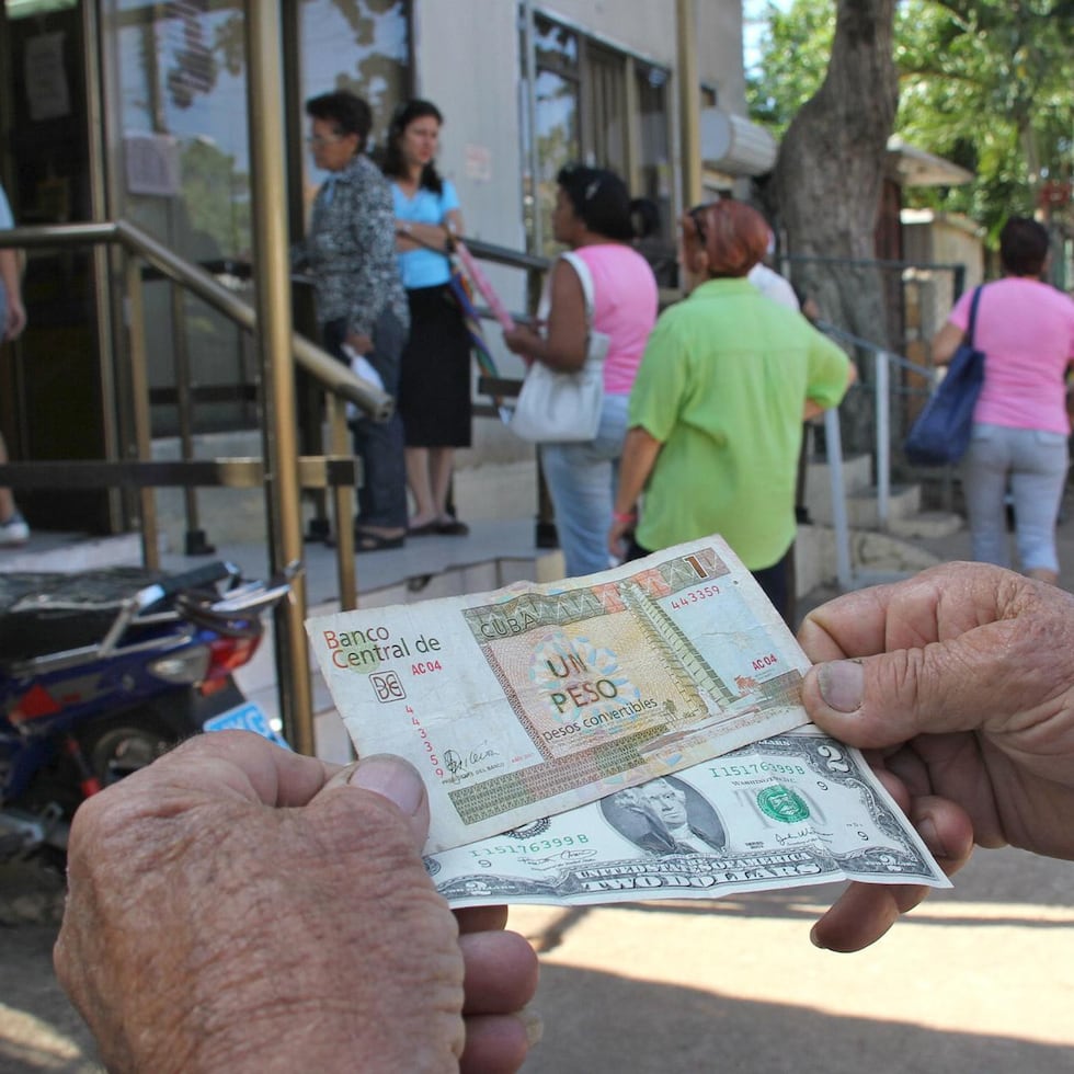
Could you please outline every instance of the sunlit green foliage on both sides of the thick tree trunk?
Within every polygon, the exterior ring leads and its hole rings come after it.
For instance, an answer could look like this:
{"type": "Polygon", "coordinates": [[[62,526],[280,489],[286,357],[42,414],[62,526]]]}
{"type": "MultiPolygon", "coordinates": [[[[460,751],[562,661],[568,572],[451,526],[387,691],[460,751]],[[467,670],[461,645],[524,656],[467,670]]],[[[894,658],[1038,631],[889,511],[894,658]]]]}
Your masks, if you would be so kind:
{"type": "MultiPolygon", "coordinates": [[[[768,5],[747,99],[777,135],[824,77],[835,9],[834,0],[768,5]]],[[[904,0],[895,62],[896,133],[976,176],[907,190],[907,204],[966,213],[994,235],[1008,215],[1037,207],[1042,183],[1071,180],[1074,0],[904,0]]]]}

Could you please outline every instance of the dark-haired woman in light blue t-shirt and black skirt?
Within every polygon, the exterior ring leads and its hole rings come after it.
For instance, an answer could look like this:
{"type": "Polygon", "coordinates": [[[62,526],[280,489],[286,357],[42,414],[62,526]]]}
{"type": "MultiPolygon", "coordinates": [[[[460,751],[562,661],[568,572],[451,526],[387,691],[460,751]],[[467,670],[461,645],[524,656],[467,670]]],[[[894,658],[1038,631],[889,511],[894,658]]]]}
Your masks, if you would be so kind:
{"type": "Polygon", "coordinates": [[[453,235],[461,235],[455,187],[436,171],[443,123],[429,101],[396,110],[384,171],[396,206],[399,271],[410,301],[399,412],[407,437],[407,481],[414,499],[411,536],[464,535],[448,511],[455,448],[470,446],[470,336],[449,279],[453,235]]]}

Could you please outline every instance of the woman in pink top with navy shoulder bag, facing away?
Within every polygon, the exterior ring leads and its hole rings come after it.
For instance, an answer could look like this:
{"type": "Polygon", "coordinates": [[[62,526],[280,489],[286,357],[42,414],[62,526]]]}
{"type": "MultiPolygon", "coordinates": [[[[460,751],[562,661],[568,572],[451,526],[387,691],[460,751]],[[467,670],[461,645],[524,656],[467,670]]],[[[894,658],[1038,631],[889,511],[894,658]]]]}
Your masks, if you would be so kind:
{"type": "MultiPolygon", "coordinates": [[[[1074,301],[1040,279],[1048,232],[1036,220],[1007,221],[999,260],[1004,278],[982,289],[973,334],[985,354],[973,436],[962,461],[973,558],[1009,565],[1004,511],[1009,480],[1021,569],[1055,582],[1055,519],[1070,465],[1065,377],[1074,362],[1074,301]]],[[[967,293],[956,302],[933,342],[938,365],[962,342],[971,298],[967,293]]]]}

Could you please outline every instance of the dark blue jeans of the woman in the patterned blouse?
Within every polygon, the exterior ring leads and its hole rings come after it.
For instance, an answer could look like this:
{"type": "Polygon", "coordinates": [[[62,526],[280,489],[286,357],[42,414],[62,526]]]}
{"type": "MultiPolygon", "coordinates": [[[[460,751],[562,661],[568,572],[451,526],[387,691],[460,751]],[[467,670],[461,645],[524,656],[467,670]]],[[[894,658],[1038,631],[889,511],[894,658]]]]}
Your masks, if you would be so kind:
{"type": "MultiPolygon", "coordinates": [[[[327,321],[322,329],[324,349],[350,367],[343,353],[346,320],[327,321]]],[[[373,327],[373,351],[366,358],[380,374],[390,396],[399,392],[399,359],[407,330],[399,318],[385,308],[373,327]]],[[[385,529],[407,528],[407,467],[403,461],[403,424],[398,411],[386,422],[359,418],[351,425],[354,454],[362,460],[358,485],[358,517],[363,526],[385,529]]]]}

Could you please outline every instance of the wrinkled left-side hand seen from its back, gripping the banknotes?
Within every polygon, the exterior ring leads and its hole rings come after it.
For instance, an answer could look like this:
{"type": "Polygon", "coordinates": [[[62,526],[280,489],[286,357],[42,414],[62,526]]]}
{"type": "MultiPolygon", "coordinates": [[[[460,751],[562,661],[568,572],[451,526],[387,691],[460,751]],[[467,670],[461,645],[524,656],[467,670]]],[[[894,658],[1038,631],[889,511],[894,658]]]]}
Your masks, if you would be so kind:
{"type": "Polygon", "coordinates": [[[108,1070],[517,1070],[536,957],[503,909],[456,922],[427,826],[404,762],[247,732],[89,799],[55,961],[108,1070]]]}

